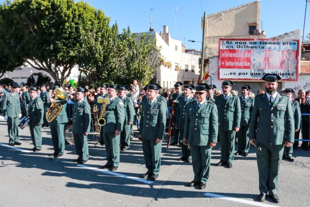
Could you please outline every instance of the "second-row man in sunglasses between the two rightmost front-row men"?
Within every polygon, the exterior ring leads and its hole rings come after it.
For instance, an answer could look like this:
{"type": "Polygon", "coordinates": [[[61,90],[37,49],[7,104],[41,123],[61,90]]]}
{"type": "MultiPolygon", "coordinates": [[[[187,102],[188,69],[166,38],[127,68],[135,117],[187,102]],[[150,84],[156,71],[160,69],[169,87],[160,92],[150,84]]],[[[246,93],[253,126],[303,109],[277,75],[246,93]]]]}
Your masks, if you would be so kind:
{"type": "Polygon", "coordinates": [[[223,81],[223,94],[215,97],[215,103],[219,111],[219,139],[221,140],[221,160],[216,166],[227,165],[228,168],[232,168],[235,135],[239,131],[241,121],[239,97],[230,93],[234,84],[230,80],[223,81]]]}

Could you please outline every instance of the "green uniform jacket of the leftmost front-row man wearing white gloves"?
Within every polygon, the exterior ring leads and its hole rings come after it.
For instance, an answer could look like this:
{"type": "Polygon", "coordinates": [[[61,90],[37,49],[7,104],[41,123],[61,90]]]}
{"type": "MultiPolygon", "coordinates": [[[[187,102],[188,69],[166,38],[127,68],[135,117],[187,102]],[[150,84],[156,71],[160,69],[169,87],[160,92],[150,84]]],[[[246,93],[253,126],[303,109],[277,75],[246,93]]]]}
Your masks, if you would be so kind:
{"type": "Polygon", "coordinates": [[[19,117],[20,111],[20,99],[19,93],[14,92],[15,97],[12,93],[5,93],[2,97],[2,114],[11,118],[19,117]]]}

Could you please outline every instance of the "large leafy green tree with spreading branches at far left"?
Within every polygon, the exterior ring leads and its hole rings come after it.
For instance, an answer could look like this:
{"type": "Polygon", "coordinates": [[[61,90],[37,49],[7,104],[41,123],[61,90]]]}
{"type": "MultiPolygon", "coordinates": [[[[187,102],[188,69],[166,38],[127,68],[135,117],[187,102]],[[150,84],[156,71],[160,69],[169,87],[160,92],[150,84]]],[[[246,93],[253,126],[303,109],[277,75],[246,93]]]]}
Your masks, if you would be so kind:
{"type": "Polygon", "coordinates": [[[102,11],[74,0],[7,1],[0,10],[0,25],[4,25],[0,34],[10,43],[6,48],[12,56],[61,83],[77,65],[81,48],[89,44],[87,31],[108,21],[102,11]]]}

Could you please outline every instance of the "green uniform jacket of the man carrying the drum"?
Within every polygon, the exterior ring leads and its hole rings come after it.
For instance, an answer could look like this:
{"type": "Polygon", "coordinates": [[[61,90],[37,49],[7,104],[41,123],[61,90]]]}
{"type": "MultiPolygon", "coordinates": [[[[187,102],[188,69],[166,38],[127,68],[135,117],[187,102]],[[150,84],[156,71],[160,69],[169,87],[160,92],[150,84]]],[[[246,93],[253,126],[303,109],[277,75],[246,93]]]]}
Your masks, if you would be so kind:
{"type": "Polygon", "coordinates": [[[40,97],[35,97],[29,102],[28,116],[31,118],[29,125],[36,126],[38,123],[43,124],[44,106],[40,97]]]}

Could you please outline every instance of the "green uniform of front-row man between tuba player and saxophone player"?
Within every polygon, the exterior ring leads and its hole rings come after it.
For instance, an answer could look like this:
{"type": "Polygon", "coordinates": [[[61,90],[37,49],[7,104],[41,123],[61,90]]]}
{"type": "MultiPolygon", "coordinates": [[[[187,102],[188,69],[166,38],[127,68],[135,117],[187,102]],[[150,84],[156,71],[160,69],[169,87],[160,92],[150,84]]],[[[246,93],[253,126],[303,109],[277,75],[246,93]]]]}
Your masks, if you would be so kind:
{"type": "Polygon", "coordinates": [[[72,133],[74,138],[75,150],[78,154],[78,160],[88,160],[88,143],[85,132],[91,128],[91,106],[84,99],[75,102],[73,105],[73,123],[72,133]]]}

